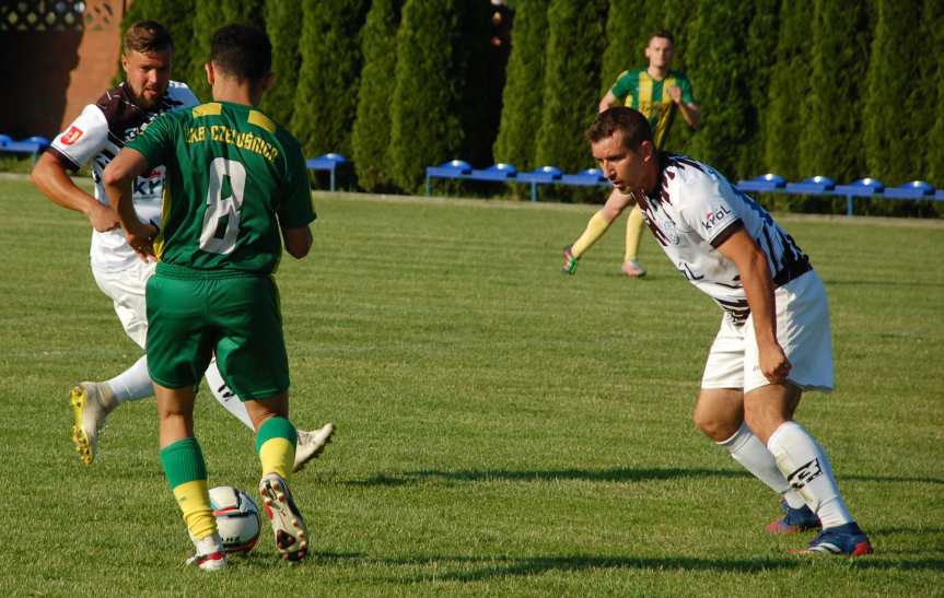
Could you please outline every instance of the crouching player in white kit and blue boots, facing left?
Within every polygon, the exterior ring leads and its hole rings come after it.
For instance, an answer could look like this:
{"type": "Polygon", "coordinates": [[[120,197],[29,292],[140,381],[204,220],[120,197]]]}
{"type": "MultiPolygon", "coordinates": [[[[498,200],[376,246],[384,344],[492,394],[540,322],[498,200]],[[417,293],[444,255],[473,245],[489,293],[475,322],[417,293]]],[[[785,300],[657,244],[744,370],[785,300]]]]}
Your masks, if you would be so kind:
{"type": "Polygon", "coordinates": [[[601,169],[627,206],[639,204],[666,256],[724,309],[694,419],[782,495],[786,515],[766,529],[821,527],[799,552],[871,553],[825,452],[793,421],[804,390],[834,386],[829,307],[809,259],[712,167],[656,152],[639,112],[605,110],[586,137],[601,169]]]}

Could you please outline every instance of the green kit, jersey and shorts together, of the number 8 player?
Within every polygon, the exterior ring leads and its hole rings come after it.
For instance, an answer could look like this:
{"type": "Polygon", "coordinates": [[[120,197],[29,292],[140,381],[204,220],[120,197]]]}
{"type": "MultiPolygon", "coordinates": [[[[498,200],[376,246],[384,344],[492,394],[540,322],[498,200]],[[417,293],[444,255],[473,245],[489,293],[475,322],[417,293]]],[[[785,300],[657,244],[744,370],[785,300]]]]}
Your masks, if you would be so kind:
{"type": "Polygon", "coordinates": [[[160,261],[148,281],[151,377],[168,388],[196,385],[215,352],[240,398],[284,392],[269,274],[282,255],[280,227],[315,219],[299,142],[255,108],[214,102],[154,120],[128,146],[150,168],[166,166],[160,261]]]}

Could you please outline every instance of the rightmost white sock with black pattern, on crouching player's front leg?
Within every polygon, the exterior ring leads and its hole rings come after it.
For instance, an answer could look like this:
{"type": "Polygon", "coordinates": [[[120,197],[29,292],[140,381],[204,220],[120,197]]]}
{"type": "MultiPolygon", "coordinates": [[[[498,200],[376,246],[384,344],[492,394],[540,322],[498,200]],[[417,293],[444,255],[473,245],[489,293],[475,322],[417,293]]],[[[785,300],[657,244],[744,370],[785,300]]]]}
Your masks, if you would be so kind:
{"type": "Polygon", "coordinates": [[[852,521],[826,453],[802,425],[783,422],[770,435],[767,447],[790,485],[800,492],[824,528],[852,521]]]}

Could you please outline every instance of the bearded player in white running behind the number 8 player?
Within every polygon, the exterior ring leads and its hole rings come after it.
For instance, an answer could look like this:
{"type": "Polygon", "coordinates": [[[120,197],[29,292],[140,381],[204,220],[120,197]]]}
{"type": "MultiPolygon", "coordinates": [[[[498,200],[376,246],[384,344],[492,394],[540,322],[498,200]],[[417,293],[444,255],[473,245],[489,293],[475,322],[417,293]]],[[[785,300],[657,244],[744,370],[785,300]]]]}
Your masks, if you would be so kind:
{"type": "MultiPolygon", "coordinates": [[[[115,210],[108,206],[102,173],[126,142],[137,137],[165,112],[199,104],[184,83],[170,81],[173,44],[167,31],[153,21],[133,24],[125,35],[121,66],[126,81],[106,91],[95,104],[56,137],[33,169],[33,181],[55,203],[82,212],[92,224],[90,250],[92,274],[103,293],[112,298],[125,332],[144,349],[148,319],[144,285],[154,263],[142,261],[128,245],[115,210]],[[67,171],[91,163],[94,197],[80,189],[67,171]]],[[[164,168],[138,177],[133,186],[135,210],[143,223],[161,226],[164,168]]],[[[243,402],[226,387],[217,368],[206,373],[213,397],[249,430],[253,422],[243,402]]],[[[98,432],[105,418],[126,400],[151,397],[154,389],[148,374],[147,355],[112,379],[83,382],[72,388],[72,439],[85,465],[97,450],[98,432]]],[[[299,431],[295,470],[317,456],[330,442],[334,425],[313,432],[299,431]]]]}

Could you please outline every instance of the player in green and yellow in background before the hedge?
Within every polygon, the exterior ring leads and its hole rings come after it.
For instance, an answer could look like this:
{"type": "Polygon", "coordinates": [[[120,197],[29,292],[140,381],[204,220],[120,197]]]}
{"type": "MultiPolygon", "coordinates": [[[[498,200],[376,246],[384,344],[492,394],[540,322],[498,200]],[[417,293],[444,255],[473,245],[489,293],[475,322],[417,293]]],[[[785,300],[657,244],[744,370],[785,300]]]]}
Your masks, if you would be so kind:
{"type": "MultiPolygon", "coordinates": [[[[672,34],[664,31],[653,33],[645,47],[649,67],[644,70],[623,71],[599,101],[601,113],[619,104],[641,112],[652,127],[657,150],[663,149],[676,113],[681,113],[681,117],[692,129],[698,129],[701,124],[701,112],[695,103],[691,83],[684,74],[669,68],[674,55],[675,42],[672,34]]],[[[580,257],[622,213],[620,206],[626,202],[616,197],[618,194],[619,190],[614,188],[603,209],[590,219],[580,238],[573,245],[564,247],[564,273],[573,274],[576,271],[580,257]]],[[[645,275],[645,269],[637,259],[642,226],[642,212],[638,207],[633,208],[626,223],[626,256],[622,262],[622,273],[629,277],[645,275]]]]}

